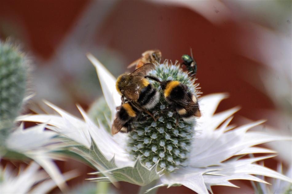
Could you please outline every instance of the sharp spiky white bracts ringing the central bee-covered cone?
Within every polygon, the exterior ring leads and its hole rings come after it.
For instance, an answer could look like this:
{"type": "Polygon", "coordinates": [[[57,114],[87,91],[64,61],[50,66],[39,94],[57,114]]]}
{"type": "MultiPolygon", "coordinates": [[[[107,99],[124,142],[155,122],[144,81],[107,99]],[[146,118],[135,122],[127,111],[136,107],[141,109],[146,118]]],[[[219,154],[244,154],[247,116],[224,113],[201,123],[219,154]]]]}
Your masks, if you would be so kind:
{"type": "MultiPolygon", "coordinates": [[[[114,115],[115,106],[120,104],[120,96],[115,91],[114,84],[107,84],[107,80],[110,78],[111,82],[114,83],[115,79],[92,55],[88,55],[88,57],[97,69],[105,99],[108,99],[108,105],[112,115],[114,115]]],[[[254,146],[271,141],[286,140],[287,138],[248,131],[263,121],[237,128],[229,126],[232,115],[238,108],[214,114],[218,104],[224,98],[226,98],[225,94],[213,94],[200,98],[199,105],[202,117],[197,119],[197,125],[194,129],[195,136],[191,144],[187,166],[180,167],[173,173],[164,174],[154,171],[153,167],[152,169],[147,169],[140,163],[139,158],[136,161],[132,161],[129,153],[125,150],[128,139],[127,134],[118,133],[115,136],[111,136],[101,124],[96,126],[80,107],[78,108],[84,120],[74,117],[48,102],[46,104],[57,111],[59,115],[28,115],[22,116],[19,120],[46,123],[49,129],[82,145],[82,149],[76,148],[78,151],[75,153],[87,158],[88,161],[91,161],[91,164],[95,162],[102,166],[103,168],[99,169],[98,165],[96,165],[97,169],[102,170],[101,173],[109,176],[91,180],[128,181],[138,185],[145,185],[149,181],[158,179],[156,186],[153,188],[184,185],[198,193],[211,191],[211,186],[213,185],[235,186],[229,180],[244,179],[266,183],[253,175],[274,177],[291,182],[288,177],[255,164],[257,161],[274,155],[240,158],[240,156],[249,153],[274,153],[270,149],[254,146]],[[147,177],[144,177],[144,174],[147,177]],[[147,180],[148,182],[146,182],[147,180]]],[[[72,147],[74,146],[76,144],[72,145],[72,147]]]]}

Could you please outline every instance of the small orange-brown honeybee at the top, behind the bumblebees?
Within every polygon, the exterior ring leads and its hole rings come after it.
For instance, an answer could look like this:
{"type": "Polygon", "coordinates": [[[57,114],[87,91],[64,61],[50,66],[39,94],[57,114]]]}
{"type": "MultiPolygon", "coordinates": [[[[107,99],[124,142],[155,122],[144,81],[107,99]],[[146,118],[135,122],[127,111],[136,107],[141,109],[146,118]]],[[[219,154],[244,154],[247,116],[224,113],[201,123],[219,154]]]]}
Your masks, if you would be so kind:
{"type": "Polygon", "coordinates": [[[136,69],[142,67],[146,63],[154,63],[155,61],[160,62],[161,60],[161,52],[160,50],[148,50],[142,53],[142,57],[135,60],[131,63],[128,68],[131,68],[136,65],[136,69]]]}

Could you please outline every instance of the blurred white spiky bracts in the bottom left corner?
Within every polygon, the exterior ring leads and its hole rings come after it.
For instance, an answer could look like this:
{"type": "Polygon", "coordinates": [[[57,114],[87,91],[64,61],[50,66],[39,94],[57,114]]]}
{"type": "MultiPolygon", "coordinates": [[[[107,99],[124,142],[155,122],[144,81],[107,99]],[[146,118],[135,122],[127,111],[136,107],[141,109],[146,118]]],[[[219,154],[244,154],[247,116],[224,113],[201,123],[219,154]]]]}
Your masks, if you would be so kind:
{"type": "MultiPolygon", "coordinates": [[[[9,165],[6,165],[4,169],[0,167],[0,175],[1,193],[47,193],[57,186],[36,162],[30,163],[26,169],[20,168],[18,173],[9,165]]],[[[76,175],[76,171],[70,171],[64,173],[64,178],[69,180],[76,175]]]]}

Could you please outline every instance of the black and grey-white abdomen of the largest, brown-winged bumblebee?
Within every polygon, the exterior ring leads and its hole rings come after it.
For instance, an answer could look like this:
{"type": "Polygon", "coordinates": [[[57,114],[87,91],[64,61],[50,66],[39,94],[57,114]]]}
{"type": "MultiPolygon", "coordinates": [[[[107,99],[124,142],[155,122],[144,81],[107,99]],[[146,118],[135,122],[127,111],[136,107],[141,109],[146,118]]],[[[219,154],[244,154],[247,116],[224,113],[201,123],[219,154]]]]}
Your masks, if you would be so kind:
{"type": "Polygon", "coordinates": [[[152,86],[152,84],[148,84],[141,90],[139,99],[137,103],[146,110],[152,109],[159,102],[160,93],[152,86]]]}

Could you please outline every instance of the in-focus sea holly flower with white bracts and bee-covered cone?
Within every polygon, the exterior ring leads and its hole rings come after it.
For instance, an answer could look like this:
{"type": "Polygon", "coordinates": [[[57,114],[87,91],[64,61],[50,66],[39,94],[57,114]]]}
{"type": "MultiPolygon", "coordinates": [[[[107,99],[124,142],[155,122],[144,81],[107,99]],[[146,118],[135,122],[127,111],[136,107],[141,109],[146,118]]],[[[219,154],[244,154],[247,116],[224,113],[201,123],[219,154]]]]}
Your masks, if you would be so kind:
{"type": "MultiPolygon", "coordinates": [[[[121,103],[120,95],[115,89],[116,79],[92,55],[89,54],[88,58],[97,69],[105,100],[111,111],[111,118],[108,119],[110,126],[116,107],[121,103]]],[[[177,65],[168,65],[157,64],[151,74],[162,79],[184,82],[195,93],[197,88],[193,85],[193,80],[177,65]]],[[[153,84],[159,87],[158,83],[153,84]]],[[[65,142],[68,150],[98,170],[92,174],[102,174],[101,177],[91,178],[92,181],[127,181],[147,185],[145,187],[148,190],[144,190],[145,192],[161,186],[184,185],[197,193],[211,192],[213,185],[235,187],[229,182],[235,179],[267,183],[254,175],[291,182],[290,178],[281,173],[256,164],[257,161],[274,155],[241,158],[251,153],[274,153],[273,150],[255,145],[289,138],[248,131],[263,121],[236,128],[229,126],[232,115],[238,108],[214,114],[224,98],[225,94],[201,97],[199,105],[202,117],[191,123],[179,118],[178,125],[176,113],[167,110],[167,104],[161,99],[153,110],[153,114],[159,116],[157,121],[146,117],[146,121],[133,124],[133,132],[114,136],[108,133],[108,126],[101,122],[96,125],[79,106],[77,107],[84,119],[46,102],[59,115],[25,115],[18,120],[45,123],[48,129],[57,132],[63,140],[67,139],[65,142]]]]}

